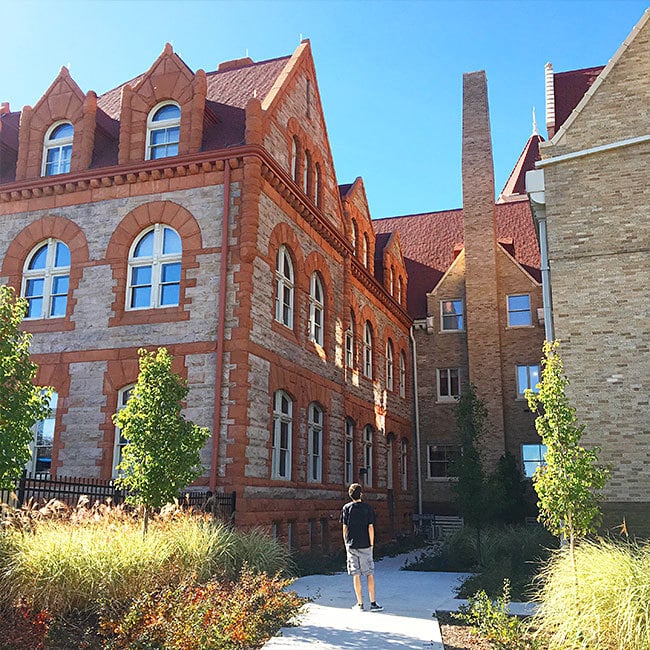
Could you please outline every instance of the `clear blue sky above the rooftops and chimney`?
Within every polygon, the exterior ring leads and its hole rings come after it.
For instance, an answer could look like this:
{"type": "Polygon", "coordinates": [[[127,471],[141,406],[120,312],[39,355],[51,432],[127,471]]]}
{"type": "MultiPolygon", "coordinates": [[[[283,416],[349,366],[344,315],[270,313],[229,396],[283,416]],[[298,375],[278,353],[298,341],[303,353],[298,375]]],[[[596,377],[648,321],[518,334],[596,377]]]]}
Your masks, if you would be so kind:
{"type": "Polygon", "coordinates": [[[460,207],[464,72],[486,70],[497,192],[544,127],[544,64],[604,65],[647,0],[599,2],[20,1],[2,7],[0,101],[34,105],[69,65],[101,94],[166,41],[194,70],[311,40],[339,183],[362,176],[375,218],[460,207]]]}

